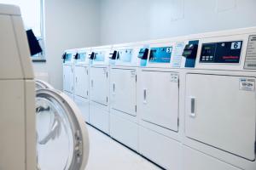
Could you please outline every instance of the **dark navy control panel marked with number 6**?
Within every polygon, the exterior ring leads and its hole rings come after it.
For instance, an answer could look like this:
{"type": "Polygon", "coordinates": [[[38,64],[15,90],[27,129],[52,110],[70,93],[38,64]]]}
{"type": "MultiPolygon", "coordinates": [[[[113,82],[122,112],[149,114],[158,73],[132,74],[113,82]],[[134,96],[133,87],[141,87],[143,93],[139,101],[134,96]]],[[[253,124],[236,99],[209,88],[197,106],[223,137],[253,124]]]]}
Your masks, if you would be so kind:
{"type": "Polygon", "coordinates": [[[239,63],[242,41],[203,43],[201,63],[239,63]]]}

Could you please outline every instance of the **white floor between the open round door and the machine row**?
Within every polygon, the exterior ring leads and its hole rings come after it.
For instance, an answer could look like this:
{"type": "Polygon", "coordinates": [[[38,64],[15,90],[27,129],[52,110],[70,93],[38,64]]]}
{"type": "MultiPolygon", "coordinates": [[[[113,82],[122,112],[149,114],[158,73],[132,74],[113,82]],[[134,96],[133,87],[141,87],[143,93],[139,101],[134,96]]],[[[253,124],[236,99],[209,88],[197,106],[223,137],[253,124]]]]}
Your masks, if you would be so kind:
{"type": "Polygon", "coordinates": [[[160,170],[150,161],[87,125],[90,157],[85,170],[160,170]]]}

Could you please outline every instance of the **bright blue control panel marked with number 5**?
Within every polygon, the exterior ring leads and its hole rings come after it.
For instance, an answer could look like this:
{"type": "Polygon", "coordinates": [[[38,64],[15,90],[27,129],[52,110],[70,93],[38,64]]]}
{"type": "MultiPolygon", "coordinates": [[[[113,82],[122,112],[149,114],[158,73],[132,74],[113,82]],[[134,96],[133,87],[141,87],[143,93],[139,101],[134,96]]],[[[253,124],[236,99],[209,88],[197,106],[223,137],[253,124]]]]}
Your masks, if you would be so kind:
{"type": "Polygon", "coordinates": [[[151,48],[149,54],[150,63],[170,63],[172,47],[151,48]]]}

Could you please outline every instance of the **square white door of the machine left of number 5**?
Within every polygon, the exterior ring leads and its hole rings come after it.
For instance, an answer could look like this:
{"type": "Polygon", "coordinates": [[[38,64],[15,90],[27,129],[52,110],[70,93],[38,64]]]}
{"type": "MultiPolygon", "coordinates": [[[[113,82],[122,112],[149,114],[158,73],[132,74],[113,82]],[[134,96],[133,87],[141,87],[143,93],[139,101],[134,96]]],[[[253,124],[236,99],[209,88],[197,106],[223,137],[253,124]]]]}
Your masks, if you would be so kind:
{"type": "Polygon", "coordinates": [[[136,116],[136,70],[111,70],[111,104],[112,108],[136,116]]]}

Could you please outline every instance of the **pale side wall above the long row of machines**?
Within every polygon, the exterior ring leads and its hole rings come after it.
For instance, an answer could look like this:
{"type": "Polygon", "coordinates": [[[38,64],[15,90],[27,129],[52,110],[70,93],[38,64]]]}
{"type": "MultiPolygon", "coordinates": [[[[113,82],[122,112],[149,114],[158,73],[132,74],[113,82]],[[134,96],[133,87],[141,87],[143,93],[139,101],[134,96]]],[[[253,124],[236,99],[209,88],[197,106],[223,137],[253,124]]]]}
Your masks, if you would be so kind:
{"type": "Polygon", "coordinates": [[[255,0],[102,0],[101,43],[256,26],[255,0]]]}

